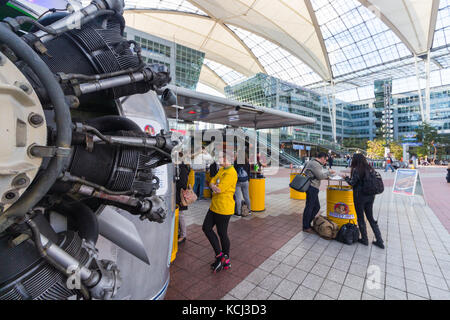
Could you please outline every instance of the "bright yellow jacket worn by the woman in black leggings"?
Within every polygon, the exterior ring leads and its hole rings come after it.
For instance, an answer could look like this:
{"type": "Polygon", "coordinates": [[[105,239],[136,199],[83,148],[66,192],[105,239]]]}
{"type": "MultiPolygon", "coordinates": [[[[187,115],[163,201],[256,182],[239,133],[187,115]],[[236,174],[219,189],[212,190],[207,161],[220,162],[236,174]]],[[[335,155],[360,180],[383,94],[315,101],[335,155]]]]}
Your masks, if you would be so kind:
{"type": "Polygon", "coordinates": [[[211,179],[213,184],[217,183],[220,193],[212,194],[211,211],[223,214],[234,214],[234,199],[233,195],[236,191],[237,172],[233,166],[228,168],[220,168],[219,172],[211,179]]]}

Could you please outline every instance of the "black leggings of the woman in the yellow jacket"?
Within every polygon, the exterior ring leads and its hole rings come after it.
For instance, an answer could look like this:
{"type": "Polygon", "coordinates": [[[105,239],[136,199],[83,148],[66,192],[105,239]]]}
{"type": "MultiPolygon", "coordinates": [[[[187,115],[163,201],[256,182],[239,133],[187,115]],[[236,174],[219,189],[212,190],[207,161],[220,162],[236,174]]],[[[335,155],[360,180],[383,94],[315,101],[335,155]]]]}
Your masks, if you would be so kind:
{"type": "Polygon", "coordinates": [[[211,246],[214,249],[214,252],[219,255],[223,252],[226,255],[230,255],[230,239],[228,239],[228,222],[230,221],[231,215],[223,215],[215,213],[211,210],[208,210],[208,213],[205,216],[205,220],[203,221],[202,230],[208,238],[211,246]],[[217,228],[217,233],[220,237],[220,244],[222,245],[222,249],[220,249],[219,239],[216,236],[216,233],[213,230],[214,225],[217,228]]]}

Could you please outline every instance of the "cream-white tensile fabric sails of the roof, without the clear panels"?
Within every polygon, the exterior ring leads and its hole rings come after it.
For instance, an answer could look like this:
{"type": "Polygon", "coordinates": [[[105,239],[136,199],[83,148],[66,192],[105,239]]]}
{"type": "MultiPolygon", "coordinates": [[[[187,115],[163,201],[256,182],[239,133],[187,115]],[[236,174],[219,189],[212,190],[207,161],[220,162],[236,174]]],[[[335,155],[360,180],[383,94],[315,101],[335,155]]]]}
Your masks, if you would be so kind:
{"type": "MultiPolygon", "coordinates": [[[[439,0],[358,1],[383,21],[412,54],[426,54],[431,48],[439,0]]],[[[286,50],[322,80],[333,78],[316,16],[316,11],[328,0],[128,0],[125,3],[128,26],[205,52],[207,59],[245,76],[266,70],[255,51],[230,26],[286,50]]],[[[214,77],[217,75],[206,71],[201,81],[214,84],[218,81],[214,77]]],[[[222,84],[219,81],[214,87],[220,88],[222,84]]]]}

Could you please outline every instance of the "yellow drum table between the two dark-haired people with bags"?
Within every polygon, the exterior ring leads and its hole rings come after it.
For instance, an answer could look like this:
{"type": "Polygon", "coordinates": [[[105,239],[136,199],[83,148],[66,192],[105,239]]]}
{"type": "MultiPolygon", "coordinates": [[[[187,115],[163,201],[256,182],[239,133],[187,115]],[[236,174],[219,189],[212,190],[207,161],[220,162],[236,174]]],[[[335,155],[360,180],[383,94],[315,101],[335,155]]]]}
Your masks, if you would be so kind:
{"type": "Polygon", "coordinates": [[[343,186],[342,183],[328,185],[327,217],[335,222],[339,228],[347,223],[358,224],[351,186],[343,186]]]}

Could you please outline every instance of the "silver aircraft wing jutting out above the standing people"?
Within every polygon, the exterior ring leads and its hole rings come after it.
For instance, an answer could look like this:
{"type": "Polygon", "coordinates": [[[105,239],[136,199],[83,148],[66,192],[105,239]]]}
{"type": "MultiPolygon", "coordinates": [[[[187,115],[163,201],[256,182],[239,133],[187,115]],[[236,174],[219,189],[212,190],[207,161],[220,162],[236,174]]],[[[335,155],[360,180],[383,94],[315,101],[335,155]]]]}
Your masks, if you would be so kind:
{"type": "Polygon", "coordinates": [[[202,121],[233,127],[269,129],[315,123],[301,115],[244,104],[217,96],[169,85],[177,96],[176,106],[166,107],[167,117],[184,121],[202,121]],[[178,114],[177,114],[178,110],[178,114]]]}

